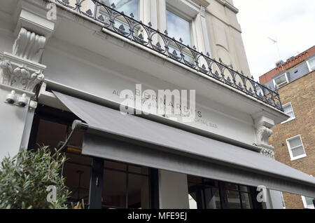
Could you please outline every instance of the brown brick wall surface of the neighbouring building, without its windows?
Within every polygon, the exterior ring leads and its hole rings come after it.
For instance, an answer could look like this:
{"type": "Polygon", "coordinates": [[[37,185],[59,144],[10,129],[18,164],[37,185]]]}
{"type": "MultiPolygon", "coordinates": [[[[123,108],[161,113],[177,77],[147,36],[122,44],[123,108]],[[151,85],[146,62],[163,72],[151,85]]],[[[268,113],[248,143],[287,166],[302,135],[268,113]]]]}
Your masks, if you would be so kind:
{"type": "MultiPolygon", "coordinates": [[[[274,126],[269,139],[277,161],[315,176],[315,71],[279,89],[281,102],[291,102],[295,120],[274,126]],[[286,139],[301,135],[307,157],[290,161],[286,139]]],[[[301,196],[283,193],[286,208],[304,208],[301,196]]]]}

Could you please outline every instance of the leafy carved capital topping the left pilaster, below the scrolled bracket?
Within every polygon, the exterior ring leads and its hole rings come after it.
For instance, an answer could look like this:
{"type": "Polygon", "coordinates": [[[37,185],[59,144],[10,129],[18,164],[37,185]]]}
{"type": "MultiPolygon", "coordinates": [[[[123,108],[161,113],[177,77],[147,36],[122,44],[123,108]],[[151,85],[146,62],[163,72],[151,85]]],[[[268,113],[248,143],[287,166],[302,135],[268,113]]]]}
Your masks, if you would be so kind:
{"type": "Polygon", "coordinates": [[[23,63],[8,58],[0,61],[0,83],[20,90],[34,92],[38,83],[44,79],[43,69],[29,68],[23,63]]]}

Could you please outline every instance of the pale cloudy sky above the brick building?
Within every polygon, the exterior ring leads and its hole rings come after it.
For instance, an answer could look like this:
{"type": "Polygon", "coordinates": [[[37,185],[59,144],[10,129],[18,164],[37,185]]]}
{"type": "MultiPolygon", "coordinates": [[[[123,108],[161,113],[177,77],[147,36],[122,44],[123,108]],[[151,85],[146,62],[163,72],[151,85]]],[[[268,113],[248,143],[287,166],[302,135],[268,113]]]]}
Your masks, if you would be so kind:
{"type": "Polygon", "coordinates": [[[234,0],[251,74],[258,77],[281,60],[315,45],[314,0],[234,0]]]}

